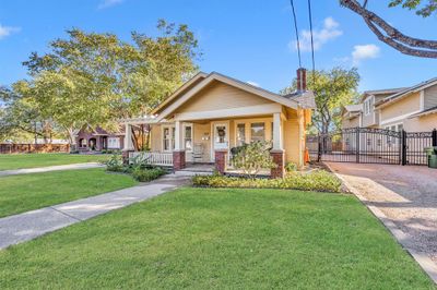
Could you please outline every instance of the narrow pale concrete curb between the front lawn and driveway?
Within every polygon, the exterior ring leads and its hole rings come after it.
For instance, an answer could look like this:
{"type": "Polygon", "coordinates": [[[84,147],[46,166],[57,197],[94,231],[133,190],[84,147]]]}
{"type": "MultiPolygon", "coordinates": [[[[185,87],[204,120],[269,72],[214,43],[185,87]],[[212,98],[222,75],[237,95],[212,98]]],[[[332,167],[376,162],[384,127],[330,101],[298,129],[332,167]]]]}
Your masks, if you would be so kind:
{"type": "Polygon", "coordinates": [[[437,264],[435,264],[426,254],[418,252],[412,247],[414,244],[413,240],[404,233],[393,221],[391,221],[379,208],[374,205],[369,205],[369,201],[364,197],[355,186],[351,185],[341,174],[336,173],[332,168],[324,164],[328,169],[341,180],[343,186],[349,192],[353,193],[359,202],[365,205],[368,210],[379,219],[379,221],[390,231],[398,243],[406,250],[406,252],[417,262],[421,268],[429,276],[429,278],[437,285],[437,264]]]}

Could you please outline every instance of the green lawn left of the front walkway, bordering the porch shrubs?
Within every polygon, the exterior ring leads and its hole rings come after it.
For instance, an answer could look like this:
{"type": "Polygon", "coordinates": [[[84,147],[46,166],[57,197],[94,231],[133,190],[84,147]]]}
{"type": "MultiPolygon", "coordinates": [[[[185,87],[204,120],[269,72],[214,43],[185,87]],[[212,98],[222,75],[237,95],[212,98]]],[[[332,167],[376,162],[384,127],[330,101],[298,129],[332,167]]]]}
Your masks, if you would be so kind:
{"type": "Polygon", "coordinates": [[[3,177],[0,178],[0,217],[134,184],[131,177],[107,173],[102,168],[3,177]]]}

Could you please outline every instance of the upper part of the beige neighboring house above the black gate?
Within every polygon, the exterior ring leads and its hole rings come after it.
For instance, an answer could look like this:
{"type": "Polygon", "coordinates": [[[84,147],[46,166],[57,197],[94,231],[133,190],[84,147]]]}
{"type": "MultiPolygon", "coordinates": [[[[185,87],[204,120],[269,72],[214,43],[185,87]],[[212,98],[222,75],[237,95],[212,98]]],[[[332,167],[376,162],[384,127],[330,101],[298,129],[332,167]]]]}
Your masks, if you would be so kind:
{"type": "Polygon", "coordinates": [[[367,90],[359,105],[343,108],[342,118],[343,129],[429,132],[437,128],[437,78],[412,87],[367,90]]]}

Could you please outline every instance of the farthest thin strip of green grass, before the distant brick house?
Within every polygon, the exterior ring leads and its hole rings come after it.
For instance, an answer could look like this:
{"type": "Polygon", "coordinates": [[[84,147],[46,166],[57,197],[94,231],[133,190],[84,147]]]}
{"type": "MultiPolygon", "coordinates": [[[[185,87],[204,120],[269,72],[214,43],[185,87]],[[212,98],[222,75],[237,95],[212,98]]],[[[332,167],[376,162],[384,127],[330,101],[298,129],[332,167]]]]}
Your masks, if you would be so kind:
{"type": "Polygon", "coordinates": [[[106,160],[108,158],[108,155],[80,155],[66,153],[1,154],[0,170],[96,162],[106,160]]]}

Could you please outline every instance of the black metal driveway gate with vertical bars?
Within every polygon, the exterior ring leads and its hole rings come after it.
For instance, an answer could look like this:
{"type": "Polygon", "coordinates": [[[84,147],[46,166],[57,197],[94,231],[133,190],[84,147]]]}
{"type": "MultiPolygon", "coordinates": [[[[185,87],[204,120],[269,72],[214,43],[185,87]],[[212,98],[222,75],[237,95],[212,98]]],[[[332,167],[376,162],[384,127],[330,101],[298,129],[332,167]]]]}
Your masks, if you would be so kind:
{"type": "Polygon", "coordinates": [[[311,160],[332,162],[426,165],[426,147],[437,146],[437,131],[405,132],[351,128],[308,135],[311,160]]]}

